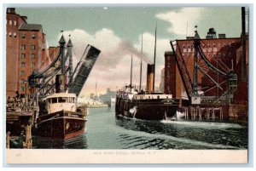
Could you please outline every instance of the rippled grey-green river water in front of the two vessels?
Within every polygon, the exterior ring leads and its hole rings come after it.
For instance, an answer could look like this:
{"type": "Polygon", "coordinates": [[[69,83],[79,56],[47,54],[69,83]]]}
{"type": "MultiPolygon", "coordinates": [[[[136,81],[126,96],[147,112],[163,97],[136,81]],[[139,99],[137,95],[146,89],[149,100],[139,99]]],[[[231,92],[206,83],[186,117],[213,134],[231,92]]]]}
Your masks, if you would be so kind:
{"type": "Polygon", "coordinates": [[[247,126],[236,123],[143,121],[115,116],[114,108],[91,108],[86,133],[65,144],[33,138],[33,148],[247,149],[247,126]]]}

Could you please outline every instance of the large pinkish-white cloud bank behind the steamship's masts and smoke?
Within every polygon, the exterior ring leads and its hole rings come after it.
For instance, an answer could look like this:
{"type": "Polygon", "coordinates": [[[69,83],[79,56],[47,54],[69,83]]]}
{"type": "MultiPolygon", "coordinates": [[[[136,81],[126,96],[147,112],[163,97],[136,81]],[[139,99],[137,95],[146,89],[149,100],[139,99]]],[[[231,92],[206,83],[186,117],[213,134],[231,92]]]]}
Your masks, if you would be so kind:
{"type": "MultiPolygon", "coordinates": [[[[130,83],[131,55],[133,55],[133,83],[139,83],[140,60],[143,59],[143,86],[146,86],[147,64],[154,60],[154,35],[149,32],[143,33],[143,54],[141,54],[141,35],[137,43],[125,41],[114,34],[110,29],[103,28],[95,34],[89,34],[84,30],[75,29],[65,31],[64,37],[68,41],[71,35],[73,41],[74,61],[77,63],[84,53],[88,43],[100,49],[102,52],[96,60],[96,64],[90,72],[90,77],[84,84],[82,94],[96,92],[104,93],[106,88],[117,90],[130,83]],[[96,81],[97,80],[97,81],[96,81]]],[[[61,34],[58,36],[58,40],[61,34]]],[[[171,50],[168,39],[157,39],[156,50],[156,80],[155,85],[160,83],[160,70],[164,67],[164,53],[171,50]]]]}

